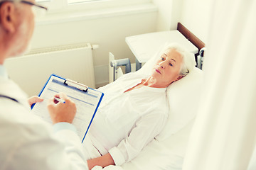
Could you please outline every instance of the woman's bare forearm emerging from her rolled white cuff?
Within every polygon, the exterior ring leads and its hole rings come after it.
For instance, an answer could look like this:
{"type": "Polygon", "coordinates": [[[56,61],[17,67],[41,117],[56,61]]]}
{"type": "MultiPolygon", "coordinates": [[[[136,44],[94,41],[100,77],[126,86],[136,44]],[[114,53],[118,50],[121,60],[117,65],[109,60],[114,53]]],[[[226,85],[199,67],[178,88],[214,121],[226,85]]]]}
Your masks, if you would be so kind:
{"type": "Polygon", "coordinates": [[[101,157],[97,157],[94,159],[87,160],[89,170],[92,169],[94,166],[99,165],[102,167],[114,165],[114,160],[112,159],[111,155],[105,154],[101,157]]]}

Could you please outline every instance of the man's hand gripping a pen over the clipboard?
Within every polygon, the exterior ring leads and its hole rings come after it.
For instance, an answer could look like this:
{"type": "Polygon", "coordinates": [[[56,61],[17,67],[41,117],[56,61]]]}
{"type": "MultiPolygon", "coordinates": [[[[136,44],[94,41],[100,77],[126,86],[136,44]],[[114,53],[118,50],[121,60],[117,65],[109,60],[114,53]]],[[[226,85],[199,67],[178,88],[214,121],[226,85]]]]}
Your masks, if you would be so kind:
{"type": "Polygon", "coordinates": [[[75,118],[76,106],[68,96],[60,93],[56,94],[53,98],[50,98],[48,101],[48,111],[53,124],[60,122],[72,123],[75,118]],[[60,98],[64,100],[65,103],[58,102],[55,98],[60,98]]]}

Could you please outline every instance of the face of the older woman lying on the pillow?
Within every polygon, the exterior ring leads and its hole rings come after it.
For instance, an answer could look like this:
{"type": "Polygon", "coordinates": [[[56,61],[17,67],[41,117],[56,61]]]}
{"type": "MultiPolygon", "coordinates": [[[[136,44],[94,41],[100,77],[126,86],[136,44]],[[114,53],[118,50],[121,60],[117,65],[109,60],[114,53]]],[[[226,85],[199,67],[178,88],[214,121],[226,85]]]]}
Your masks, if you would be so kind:
{"type": "Polygon", "coordinates": [[[152,77],[161,87],[167,87],[172,82],[181,79],[179,74],[181,70],[182,57],[175,49],[166,50],[153,69],[152,77]]]}

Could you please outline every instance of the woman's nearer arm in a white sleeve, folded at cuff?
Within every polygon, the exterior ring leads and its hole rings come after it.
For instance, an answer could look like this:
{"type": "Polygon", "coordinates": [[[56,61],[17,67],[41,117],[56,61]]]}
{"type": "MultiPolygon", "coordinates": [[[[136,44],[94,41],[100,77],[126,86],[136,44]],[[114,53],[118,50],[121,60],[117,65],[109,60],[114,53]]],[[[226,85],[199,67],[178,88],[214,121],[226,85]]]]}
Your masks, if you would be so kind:
{"type": "MultiPolygon", "coordinates": [[[[161,109],[160,109],[161,110],[161,109]]],[[[124,162],[137,157],[142,149],[156,137],[164,128],[166,115],[151,113],[142,116],[127,137],[124,138],[117,147],[109,149],[109,153],[114,160],[114,164],[121,166],[124,162]]]]}

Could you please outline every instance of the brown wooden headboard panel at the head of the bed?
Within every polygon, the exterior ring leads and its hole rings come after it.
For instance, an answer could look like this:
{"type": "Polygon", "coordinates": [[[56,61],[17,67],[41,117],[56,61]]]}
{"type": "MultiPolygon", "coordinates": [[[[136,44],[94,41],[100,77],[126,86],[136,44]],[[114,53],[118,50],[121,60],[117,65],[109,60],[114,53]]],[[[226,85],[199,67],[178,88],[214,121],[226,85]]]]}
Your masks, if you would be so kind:
{"type": "Polygon", "coordinates": [[[178,23],[177,30],[182,33],[188,39],[190,42],[192,42],[193,45],[195,45],[198,48],[198,51],[201,50],[201,48],[205,47],[205,43],[201,41],[199,38],[196,37],[196,35],[193,35],[190,30],[188,30],[185,26],[183,26],[181,23],[178,23]]]}

